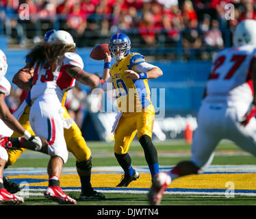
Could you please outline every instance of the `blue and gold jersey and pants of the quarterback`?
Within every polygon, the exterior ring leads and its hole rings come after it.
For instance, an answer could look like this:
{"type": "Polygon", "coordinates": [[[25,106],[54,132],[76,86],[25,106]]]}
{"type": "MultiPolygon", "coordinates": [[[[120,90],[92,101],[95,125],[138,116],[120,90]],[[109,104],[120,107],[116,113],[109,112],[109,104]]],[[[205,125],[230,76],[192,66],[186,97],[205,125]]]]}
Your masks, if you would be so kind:
{"type": "Polygon", "coordinates": [[[148,81],[133,80],[125,74],[125,70],[134,70],[134,66],[142,62],[145,62],[143,55],[130,53],[110,68],[118,110],[123,112],[114,134],[114,152],[117,154],[127,153],[137,131],[138,140],[144,135],[152,138],[155,109],[151,103],[148,81]]]}

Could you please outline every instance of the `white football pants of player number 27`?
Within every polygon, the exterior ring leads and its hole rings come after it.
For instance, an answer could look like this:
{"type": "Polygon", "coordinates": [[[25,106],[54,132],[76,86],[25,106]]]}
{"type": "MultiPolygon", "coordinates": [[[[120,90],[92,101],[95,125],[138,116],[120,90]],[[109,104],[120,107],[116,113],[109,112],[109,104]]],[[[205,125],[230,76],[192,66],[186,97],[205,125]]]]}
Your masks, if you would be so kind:
{"type": "Polygon", "coordinates": [[[196,166],[207,168],[211,164],[214,150],[222,139],[231,140],[256,156],[256,120],[253,117],[246,127],[240,125],[245,113],[243,108],[243,105],[228,107],[225,103],[204,103],[201,106],[191,148],[191,161],[196,166]]]}

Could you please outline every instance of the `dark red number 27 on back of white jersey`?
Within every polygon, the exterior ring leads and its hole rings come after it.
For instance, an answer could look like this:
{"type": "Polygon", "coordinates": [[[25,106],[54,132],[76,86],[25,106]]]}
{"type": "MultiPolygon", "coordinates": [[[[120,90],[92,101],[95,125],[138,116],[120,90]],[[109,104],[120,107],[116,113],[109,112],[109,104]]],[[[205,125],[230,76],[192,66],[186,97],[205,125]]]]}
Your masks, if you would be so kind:
{"type": "MultiPolygon", "coordinates": [[[[246,55],[233,55],[231,57],[231,62],[233,62],[232,67],[229,69],[225,77],[223,79],[230,79],[236,70],[241,66],[242,62],[244,62],[246,58],[246,55]]],[[[215,61],[214,61],[214,68],[212,69],[212,73],[209,77],[209,79],[218,79],[220,76],[220,73],[218,73],[218,68],[222,66],[222,64],[225,62],[226,57],[225,55],[220,55],[215,61]]]]}

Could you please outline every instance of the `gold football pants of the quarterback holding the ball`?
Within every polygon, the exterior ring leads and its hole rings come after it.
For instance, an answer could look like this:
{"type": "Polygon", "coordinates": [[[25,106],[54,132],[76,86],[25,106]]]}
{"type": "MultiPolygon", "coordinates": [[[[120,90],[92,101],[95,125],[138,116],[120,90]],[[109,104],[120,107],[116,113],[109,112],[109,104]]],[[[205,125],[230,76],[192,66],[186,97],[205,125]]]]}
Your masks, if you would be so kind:
{"type": "Polygon", "coordinates": [[[151,104],[146,107],[144,111],[145,112],[125,112],[122,114],[114,134],[114,153],[127,153],[137,131],[138,140],[144,135],[152,138],[155,109],[151,104]]]}

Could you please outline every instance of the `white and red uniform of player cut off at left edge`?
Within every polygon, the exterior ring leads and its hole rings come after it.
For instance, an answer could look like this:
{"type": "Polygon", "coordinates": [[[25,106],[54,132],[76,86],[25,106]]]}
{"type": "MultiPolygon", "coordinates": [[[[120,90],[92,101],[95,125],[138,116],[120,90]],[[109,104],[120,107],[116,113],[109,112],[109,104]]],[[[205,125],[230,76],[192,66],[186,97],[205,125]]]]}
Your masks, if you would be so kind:
{"type": "MultiPolygon", "coordinates": [[[[9,96],[11,90],[11,84],[5,77],[0,77],[0,92],[5,94],[5,96],[9,96]]],[[[12,129],[10,129],[3,120],[0,119],[0,138],[3,136],[12,136],[12,129]]],[[[0,146],[0,159],[5,159],[8,161],[8,153],[6,150],[0,146]]]]}

